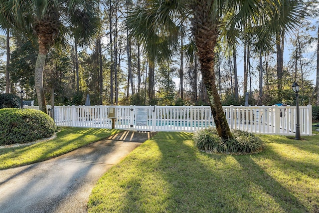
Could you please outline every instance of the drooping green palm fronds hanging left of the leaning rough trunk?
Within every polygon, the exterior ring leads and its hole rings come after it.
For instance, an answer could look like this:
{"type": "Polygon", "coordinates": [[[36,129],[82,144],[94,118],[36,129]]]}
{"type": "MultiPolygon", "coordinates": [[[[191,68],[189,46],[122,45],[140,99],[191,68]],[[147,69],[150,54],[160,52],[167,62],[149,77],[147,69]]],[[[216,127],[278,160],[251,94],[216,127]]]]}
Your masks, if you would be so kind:
{"type": "Polygon", "coordinates": [[[177,0],[149,0],[146,7],[128,14],[126,28],[131,37],[144,44],[151,61],[170,60],[173,57],[182,27],[181,20],[189,11],[184,5],[177,0]]]}

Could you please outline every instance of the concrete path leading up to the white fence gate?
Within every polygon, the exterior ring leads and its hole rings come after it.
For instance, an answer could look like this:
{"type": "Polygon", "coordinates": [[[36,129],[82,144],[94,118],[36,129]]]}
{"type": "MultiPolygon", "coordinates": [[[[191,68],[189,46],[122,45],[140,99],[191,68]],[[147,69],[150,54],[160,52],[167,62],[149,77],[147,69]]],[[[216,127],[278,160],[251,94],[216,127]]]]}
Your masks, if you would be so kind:
{"type": "Polygon", "coordinates": [[[0,213],[86,213],[100,177],[154,134],[124,131],[48,161],[0,170],[0,213]]]}

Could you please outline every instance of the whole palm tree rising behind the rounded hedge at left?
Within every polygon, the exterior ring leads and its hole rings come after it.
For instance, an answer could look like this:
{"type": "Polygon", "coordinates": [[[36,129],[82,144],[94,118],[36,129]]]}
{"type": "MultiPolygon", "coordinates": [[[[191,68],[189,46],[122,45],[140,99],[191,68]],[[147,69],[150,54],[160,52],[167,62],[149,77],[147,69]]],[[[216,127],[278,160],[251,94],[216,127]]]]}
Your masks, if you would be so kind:
{"type": "Polygon", "coordinates": [[[96,16],[96,3],[96,0],[0,1],[0,23],[9,22],[38,45],[34,81],[39,108],[43,112],[46,112],[43,88],[46,55],[53,45],[66,45],[71,31],[79,43],[89,42],[98,34],[100,18],[96,16]]]}

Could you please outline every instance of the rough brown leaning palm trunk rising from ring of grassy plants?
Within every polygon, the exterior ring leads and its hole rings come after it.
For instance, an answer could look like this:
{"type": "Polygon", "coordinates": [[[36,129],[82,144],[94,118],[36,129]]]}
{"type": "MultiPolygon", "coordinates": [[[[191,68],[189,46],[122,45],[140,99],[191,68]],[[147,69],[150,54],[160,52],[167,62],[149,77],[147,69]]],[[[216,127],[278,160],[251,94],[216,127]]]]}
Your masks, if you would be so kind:
{"type": "Polygon", "coordinates": [[[219,34],[218,23],[213,20],[210,12],[211,1],[198,0],[192,6],[194,11],[191,20],[192,32],[198,49],[198,59],[201,73],[206,86],[210,108],[214,118],[218,135],[223,139],[232,138],[224,110],[216,87],[216,76],[214,71],[215,53],[214,49],[219,34]],[[203,9],[206,8],[206,9],[203,9]],[[207,9],[208,8],[208,9],[207,9]]]}

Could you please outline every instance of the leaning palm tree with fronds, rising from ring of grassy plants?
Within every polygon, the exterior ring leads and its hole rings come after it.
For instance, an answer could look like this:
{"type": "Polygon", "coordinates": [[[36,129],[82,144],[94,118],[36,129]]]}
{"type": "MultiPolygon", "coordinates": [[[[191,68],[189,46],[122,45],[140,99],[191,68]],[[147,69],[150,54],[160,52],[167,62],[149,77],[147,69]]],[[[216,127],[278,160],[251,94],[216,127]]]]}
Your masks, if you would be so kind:
{"type": "Polygon", "coordinates": [[[291,22],[296,23],[296,20],[292,20],[291,13],[298,16],[302,9],[303,3],[299,0],[148,0],[144,8],[132,12],[126,24],[133,36],[146,43],[151,39],[149,32],[176,40],[178,33],[174,30],[175,26],[189,18],[216,129],[219,136],[227,139],[232,138],[232,134],[223,112],[214,72],[215,47],[222,26],[229,24],[225,28],[232,31],[249,23],[258,38],[271,38],[267,35],[278,32],[284,26],[292,28],[291,22]],[[283,2],[290,3],[294,9],[280,20],[274,19],[274,12],[281,11],[283,2]]]}

